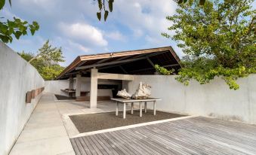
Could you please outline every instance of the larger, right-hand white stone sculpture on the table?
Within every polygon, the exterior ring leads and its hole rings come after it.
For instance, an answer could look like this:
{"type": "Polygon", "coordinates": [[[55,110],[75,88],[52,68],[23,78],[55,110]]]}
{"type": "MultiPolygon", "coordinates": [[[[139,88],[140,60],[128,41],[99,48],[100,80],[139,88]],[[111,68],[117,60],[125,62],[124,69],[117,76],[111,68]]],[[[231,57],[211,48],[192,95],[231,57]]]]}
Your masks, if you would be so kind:
{"type": "Polygon", "coordinates": [[[136,92],[131,96],[132,99],[148,99],[151,95],[151,86],[140,82],[136,92]]]}

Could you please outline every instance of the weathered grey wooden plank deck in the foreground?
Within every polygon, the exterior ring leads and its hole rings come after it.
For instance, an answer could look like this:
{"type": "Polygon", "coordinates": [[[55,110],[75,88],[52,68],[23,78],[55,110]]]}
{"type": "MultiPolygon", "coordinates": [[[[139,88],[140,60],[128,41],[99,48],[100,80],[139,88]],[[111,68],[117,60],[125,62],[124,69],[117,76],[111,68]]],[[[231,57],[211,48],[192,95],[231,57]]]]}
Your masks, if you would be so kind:
{"type": "Polygon", "coordinates": [[[70,140],[76,154],[256,154],[256,126],[206,117],[70,140]]]}

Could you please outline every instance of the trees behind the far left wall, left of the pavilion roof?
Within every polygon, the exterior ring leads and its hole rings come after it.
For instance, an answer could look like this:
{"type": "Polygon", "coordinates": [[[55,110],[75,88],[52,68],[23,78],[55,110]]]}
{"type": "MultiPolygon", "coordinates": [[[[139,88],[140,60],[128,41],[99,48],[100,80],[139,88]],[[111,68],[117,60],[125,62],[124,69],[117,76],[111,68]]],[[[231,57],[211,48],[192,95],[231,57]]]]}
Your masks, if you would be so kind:
{"type": "Polygon", "coordinates": [[[64,69],[59,65],[59,62],[64,62],[61,48],[52,47],[49,41],[45,42],[36,55],[24,51],[19,54],[33,65],[45,80],[54,80],[64,69]]]}

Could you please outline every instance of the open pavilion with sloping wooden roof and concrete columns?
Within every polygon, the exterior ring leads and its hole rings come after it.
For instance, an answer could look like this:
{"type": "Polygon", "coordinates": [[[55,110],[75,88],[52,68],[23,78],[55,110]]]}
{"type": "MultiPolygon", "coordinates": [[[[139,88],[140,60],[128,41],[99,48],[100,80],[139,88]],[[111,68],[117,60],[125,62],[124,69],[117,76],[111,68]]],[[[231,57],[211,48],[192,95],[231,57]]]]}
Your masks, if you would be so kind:
{"type": "Polygon", "coordinates": [[[174,68],[177,72],[180,59],[172,47],[77,56],[57,80],[69,79],[69,90],[72,90],[73,79],[76,79],[76,97],[79,97],[81,79],[91,78],[90,108],[96,108],[98,79],[118,80],[125,85],[125,82],[134,80],[135,74],[156,74],[156,64],[168,69],[174,68]]]}

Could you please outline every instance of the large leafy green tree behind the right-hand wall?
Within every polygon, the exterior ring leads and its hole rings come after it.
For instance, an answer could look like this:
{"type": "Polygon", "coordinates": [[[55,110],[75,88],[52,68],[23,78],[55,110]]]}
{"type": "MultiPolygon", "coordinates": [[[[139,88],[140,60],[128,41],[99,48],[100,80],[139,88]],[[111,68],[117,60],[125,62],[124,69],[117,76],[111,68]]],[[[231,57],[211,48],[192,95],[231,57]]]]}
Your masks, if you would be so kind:
{"type": "Polygon", "coordinates": [[[175,35],[162,35],[177,41],[187,54],[177,81],[189,84],[195,79],[206,84],[222,77],[230,89],[237,90],[237,78],[256,73],[255,14],[253,0],[214,0],[198,5],[190,0],[166,17],[175,35]]]}

